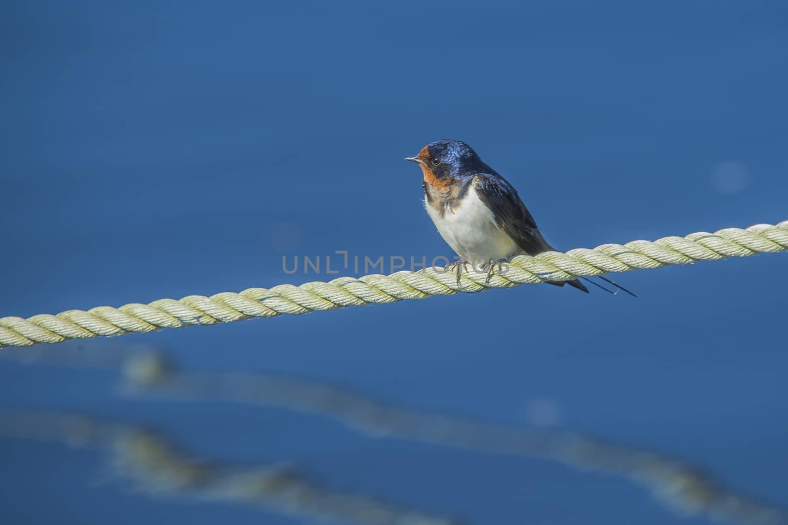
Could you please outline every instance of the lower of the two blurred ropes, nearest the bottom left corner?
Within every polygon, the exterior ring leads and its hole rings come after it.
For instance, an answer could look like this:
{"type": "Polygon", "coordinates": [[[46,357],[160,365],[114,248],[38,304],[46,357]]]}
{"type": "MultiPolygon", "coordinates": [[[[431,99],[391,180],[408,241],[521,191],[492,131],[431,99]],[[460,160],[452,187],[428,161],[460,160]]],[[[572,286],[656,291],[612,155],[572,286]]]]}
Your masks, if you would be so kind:
{"type": "Polygon", "coordinates": [[[161,434],[135,425],[68,412],[0,411],[0,438],[67,442],[110,450],[118,474],[151,494],[262,505],[319,523],[458,525],[360,494],[308,481],[288,465],[241,468],[191,457],[161,434]]]}

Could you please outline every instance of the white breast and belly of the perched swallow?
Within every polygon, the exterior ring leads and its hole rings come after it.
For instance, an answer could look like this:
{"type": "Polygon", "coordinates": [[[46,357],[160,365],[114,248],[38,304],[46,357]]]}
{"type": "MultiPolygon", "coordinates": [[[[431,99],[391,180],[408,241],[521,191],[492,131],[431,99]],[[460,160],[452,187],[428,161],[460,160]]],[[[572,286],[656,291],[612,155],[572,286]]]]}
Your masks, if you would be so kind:
{"type": "Polygon", "coordinates": [[[473,184],[459,205],[447,209],[443,216],[429,203],[425,204],[440,236],[459,257],[471,264],[503,261],[522,251],[505,231],[496,226],[492,212],[479,199],[473,184]]]}

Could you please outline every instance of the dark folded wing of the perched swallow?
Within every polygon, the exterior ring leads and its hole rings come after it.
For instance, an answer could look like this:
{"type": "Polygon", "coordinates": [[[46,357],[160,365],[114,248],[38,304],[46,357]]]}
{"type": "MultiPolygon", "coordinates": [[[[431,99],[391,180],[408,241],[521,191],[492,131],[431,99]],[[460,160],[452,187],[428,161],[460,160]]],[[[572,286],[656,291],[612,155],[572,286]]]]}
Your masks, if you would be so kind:
{"type": "Polygon", "coordinates": [[[517,190],[500,175],[478,173],[473,185],[482,202],[492,210],[496,224],[514,240],[522,251],[536,255],[552,250],[541,236],[533,216],[522,204],[517,190]]]}

